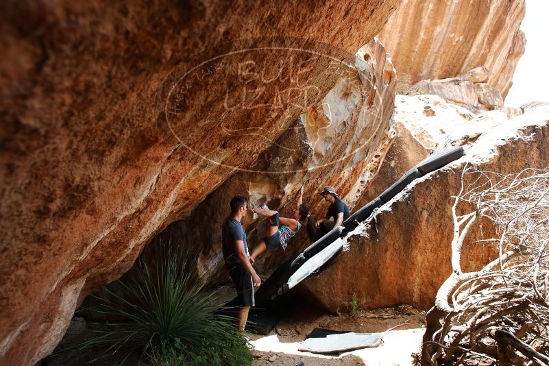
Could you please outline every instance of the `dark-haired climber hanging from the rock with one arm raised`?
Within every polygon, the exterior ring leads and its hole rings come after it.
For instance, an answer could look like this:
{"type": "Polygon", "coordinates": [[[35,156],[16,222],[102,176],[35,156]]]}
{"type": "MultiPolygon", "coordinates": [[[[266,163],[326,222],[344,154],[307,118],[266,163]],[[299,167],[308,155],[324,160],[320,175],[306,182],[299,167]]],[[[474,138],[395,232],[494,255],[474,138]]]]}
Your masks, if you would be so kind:
{"type": "Polygon", "coordinates": [[[293,219],[280,217],[278,211],[269,210],[265,205],[261,208],[252,207],[253,212],[268,217],[269,222],[267,223],[267,235],[254,247],[252,254],[249,256],[250,263],[254,264],[256,258],[266,249],[281,248],[286,250],[288,241],[300,231],[302,223],[308,219],[309,210],[302,202],[303,187],[300,189],[300,197],[297,199],[295,210],[293,210],[293,219]]]}

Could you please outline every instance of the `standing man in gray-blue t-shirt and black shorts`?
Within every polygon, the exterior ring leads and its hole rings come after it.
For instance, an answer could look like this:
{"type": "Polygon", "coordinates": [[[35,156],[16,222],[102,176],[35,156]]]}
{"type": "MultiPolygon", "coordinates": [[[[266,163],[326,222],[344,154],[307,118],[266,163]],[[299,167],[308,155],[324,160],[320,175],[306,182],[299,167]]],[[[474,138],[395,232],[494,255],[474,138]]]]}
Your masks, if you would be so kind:
{"type": "Polygon", "coordinates": [[[261,279],[249,261],[249,250],[246,232],[241,219],[246,214],[247,202],[242,196],[234,196],[230,201],[231,215],[223,225],[221,241],[223,243],[223,258],[234,287],[236,300],[240,306],[238,312],[239,328],[244,330],[249,308],[255,305],[254,285],[259,286],[261,279]]]}

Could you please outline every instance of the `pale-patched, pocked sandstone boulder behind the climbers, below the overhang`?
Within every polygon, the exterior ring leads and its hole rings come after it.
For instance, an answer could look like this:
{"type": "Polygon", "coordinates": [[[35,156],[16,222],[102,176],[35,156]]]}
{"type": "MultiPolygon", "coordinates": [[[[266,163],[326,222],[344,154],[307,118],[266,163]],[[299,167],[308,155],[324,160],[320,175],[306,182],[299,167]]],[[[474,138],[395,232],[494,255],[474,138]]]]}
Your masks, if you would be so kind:
{"type": "MultiPolygon", "coordinates": [[[[221,226],[228,202],[236,194],[255,204],[267,204],[291,217],[297,193],[304,185],[304,203],[313,217],[322,217],[326,203],[317,195],[335,186],[349,204],[360,197],[367,176],[374,176],[393,140],[391,114],[395,70],[385,48],[374,39],[358,50],[353,66],[319,103],[302,114],[271,148],[246,171],[232,175],[199,204],[188,219],[175,221],[156,236],[198,254],[197,268],[212,284],[226,280],[221,253],[221,226]],[[208,218],[208,230],[196,230],[208,218]]],[[[265,236],[265,219],[243,220],[248,245],[265,236]]],[[[292,239],[286,252],[267,251],[256,262],[268,276],[283,260],[308,245],[306,230],[292,239]]]]}

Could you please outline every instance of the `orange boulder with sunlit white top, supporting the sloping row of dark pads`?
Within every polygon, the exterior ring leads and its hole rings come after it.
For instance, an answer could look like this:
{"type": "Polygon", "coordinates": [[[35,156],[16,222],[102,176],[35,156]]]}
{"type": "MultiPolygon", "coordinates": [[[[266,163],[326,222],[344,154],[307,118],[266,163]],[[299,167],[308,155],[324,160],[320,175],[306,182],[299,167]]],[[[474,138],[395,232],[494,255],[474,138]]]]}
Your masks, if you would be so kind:
{"type": "MultiPolygon", "coordinates": [[[[467,110],[438,97],[397,97],[394,118],[399,135],[367,191],[376,195],[385,187],[382,184],[421,160],[428,149],[463,144],[467,155],[415,180],[382,206],[375,221],[361,225],[347,239],[347,252],[319,276],[304,281],[300,291],[331,311],[345,309],[353,297],[362,308],[432,306],[451,271],[451,196],[459,191],[465,164],[501,173],[549,165],[549,106],[529,108],[512,119],[496,110],[460,121],[461,113],[468,116],[467,110]],[[436,110],[431,117],[424,116],[426,103],[436,110]],[[411,154],[406,155],[408,151],[411,154]],[[396,164],[401,159],[408,165],[396,164]]],[[[475,228],[468,240],[478,238],[481,231],[475,228]]],[[[478,269],[491,258],[493,248],[472,245],[462,254],[462,267],[478,269]]]]}

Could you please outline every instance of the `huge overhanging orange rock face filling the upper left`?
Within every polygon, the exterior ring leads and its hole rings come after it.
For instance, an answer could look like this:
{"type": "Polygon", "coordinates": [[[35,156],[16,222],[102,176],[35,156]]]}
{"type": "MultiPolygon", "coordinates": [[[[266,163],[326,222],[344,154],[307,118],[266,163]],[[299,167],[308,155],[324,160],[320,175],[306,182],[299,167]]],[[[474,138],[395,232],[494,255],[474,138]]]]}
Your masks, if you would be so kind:
{"type": "Polygon", "coordinates": [[[4,9],[0,363],[49,354],[82,297],[250,167],[347,73],[396,5],[4,9]]]}

